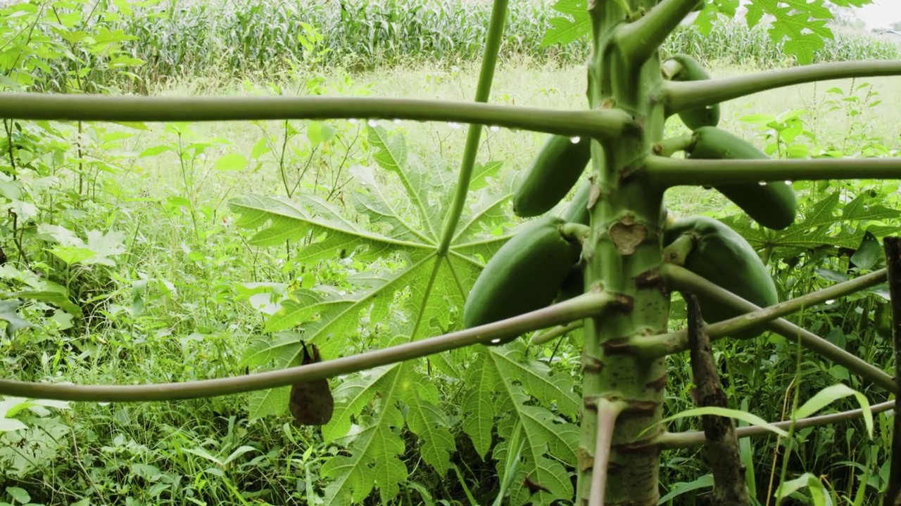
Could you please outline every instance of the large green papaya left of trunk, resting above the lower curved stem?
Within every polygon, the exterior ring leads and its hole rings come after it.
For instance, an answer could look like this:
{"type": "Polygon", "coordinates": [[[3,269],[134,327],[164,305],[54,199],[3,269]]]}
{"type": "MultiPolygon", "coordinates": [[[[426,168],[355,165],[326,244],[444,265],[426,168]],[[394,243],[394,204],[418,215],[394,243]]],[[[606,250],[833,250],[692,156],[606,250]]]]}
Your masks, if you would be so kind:
{"type": "Polygon", "coordinates": [[[553,303],[582,254],[578,240],[561,235],[560,226],[565,223],[556,216],[532,221],[497,250],[466,298],[463,324],[467,329],[553,303]]]}

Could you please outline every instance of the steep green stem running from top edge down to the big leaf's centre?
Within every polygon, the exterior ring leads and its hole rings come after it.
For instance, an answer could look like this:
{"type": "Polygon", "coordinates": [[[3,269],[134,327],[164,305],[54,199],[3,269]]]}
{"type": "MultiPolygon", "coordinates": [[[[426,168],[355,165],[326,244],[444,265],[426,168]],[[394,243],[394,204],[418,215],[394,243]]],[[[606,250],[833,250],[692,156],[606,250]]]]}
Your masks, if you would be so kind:
{"type": "MultiPolygon", "coordinates": [[[[488,38],[485,42],[485,53],[482,55],[482,68],[478,73],[478,85],[476,86],[476,102],[487,103],[491,95],[491,83],[495,78],[497,65],[497,53],[500,50],[501,39],[504,35],[504,23],[507,15],[507,0],[495,0],[491,9],[491,21],[488,23],[488,38]]],[[[472,177],[472,168],[476,164],[478,154],[478,140],[482,135],[482,125],[470,124],[466,136],[466,147],[463,149],[463,160],[460,162],[460,176],[457,178],[457,192],[454,194],[451,209],[444,218],[444,230],[441,230],[441,243],[438,245],[438,256],[447,255],[451,248],[453,232],[460,224],[460,215],[466,204],[469,194],[469,179],[472,177]]]]}

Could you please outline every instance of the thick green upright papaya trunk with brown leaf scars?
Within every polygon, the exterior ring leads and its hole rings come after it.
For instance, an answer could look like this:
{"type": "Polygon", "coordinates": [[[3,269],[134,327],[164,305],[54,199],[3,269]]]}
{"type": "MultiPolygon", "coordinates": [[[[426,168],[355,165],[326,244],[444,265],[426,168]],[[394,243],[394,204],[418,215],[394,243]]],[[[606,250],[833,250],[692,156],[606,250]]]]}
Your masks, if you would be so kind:
{"type": "MultiPolygon", "coordinates": [[[[629,3],[635,12],[639,7],[650,9],[656,1],[629,3]]],[[[659,499],[659,449],[642,443],[663,429],[659,422],[665,358],[623,354],[605,344],[667,331],[669,293],[660,277],[663,190],[641,177],[621,178],[624,169],[649,153],[663,136],[663,106],[651,100],[662,82],[660,59],[655,51],[646,62],[629,61],[614,47],[614,26],[624,18],[616,2],[596,2],[589,13],[594,42],[588,62],[588,104],[592,110],[623,109],[633,114],[642,129],[604,145],[592,142],[597,198],[590,207],[592,232],[583,250],[586,286],[600,284],[605,291],[630,297],[633,304],[585,322],[577,504],[588,503],[596,453],[596,406],[606,399],[626,402],[628,407],[615,424],[605,504],[653,505],[659,499]]]]}

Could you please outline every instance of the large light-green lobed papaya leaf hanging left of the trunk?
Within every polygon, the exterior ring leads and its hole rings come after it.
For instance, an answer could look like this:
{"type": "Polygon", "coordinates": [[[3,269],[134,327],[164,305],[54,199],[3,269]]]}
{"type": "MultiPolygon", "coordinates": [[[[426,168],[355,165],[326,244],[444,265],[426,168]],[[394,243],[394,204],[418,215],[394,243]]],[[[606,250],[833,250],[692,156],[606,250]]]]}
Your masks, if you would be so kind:
{"type": "MultiPolygon", "coordinates": [[[[317,262],[340,255],[366,266],[350,272],[341,287],[293,286],[268,298],[278,306],[264,322],[263,331],[269,334],[250,343],[242,365],[290,366],[303,354],[301,337],[319,348],[323,360],[329,360],[364,348],[364,343],[354,338],[361,328],[387,328],[369,332],[367,348],[373,346],[372,336],[379,339],[375,346],[386,347],[455,330],[469,288],[487,260],[515,233],[507,211],[512,177],[499,177],[500,162],[488,161],[478,168],[478,189],[470,188],[447,255],[438,255],[457,171],[440,158],[416,157],[402,137],[383,127],[370,126],[367,139],[375,165],[350,169],[353,185],[345,192],[344,201],[356,212],[352,218],[332,203],[308,194],[298,194],[293,200],[250,194],[230,202],[239,215],[235,224],[254,230],[249,241],[254,246],[284,247],[286,241],[304,239],[305,245],[295,257],[302,265],[315,267],[317,262]]],[[[514,349],[522,355],[522,347],[514,349]]],[[[478,407],[467,411],[463,423],[482,455],[493,444],[496,412],[522,416],[516,406],[521,407],[525,398],[520,395],[523,398],[514,400],[508,392],[504,395],[504,377],[517,377],[523,383],[517,388],[541,399],[542,405],[557,402],[560,412],[569,418],[578,413],[578,396],[567,378],[551,375],[550,368],[542,364],[522,364],[515,359],[517,355],[505,353],[513,352],[497,347],[490,354],[477,353],[477,361],[487,364],[481,372],[481,386],[461,395],[467,405],[478,407]]],[[[471,350],[455,350],[430,360],[439,364],[442,372],[459,375],[456,369],[461,358],[472,356],[471,350]]],[[[323,438],[346,445],[349,453],[334,456],[323,465],[323,476],[330,480],[325,491],[327,503],[361,501],[375,489],[383,499],[396,496],[408,474],[401,460],[404,428],[419,439],[418,451],[426,464],[441,474],[451,469],[456,449],[451,420],[440,407],[433,377],[419,370],[422,364],[422,360],[409,361],[332,381],[335,408],[332,420],[323,426],[323,438]]],[[[469,374],[477,369],[467,367],[469,374]]],[[[281,413],[285,406],[287,388],[250,394],[253,418],[281,413]]],[[[551,411],[532,418],[538,420],[533,423],[540,421],[550,429],[568,427],[565,420],[551,420],[551,411]]],[[[575,439],[569,441],[569,434],[561,429],[556,438],[562,440],[544,437],[548,439],[544,446],[564,450],[562,456],[556,451],[554,458],[542,456],[554,479],[567,476],[557,459],[574,455],[570,443],[574,445],[575,439]]],[[[546,453],[544,446],[541,452],[536,446],[532,456],[546,453]]],[[[569,483],[567,480],[563,481],[569,483]]]]}

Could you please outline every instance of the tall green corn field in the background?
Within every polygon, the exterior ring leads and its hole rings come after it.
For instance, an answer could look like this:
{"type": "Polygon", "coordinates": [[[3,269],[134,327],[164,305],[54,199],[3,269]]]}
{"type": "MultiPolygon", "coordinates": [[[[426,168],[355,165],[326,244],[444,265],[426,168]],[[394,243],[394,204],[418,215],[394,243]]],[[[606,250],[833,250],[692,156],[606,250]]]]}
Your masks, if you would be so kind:
{"type": "MultiPolygon", "coordinates": [[[[116,3],[119,7],[101,3],[102,8],[96,2],[73,3],[82,11],[78,23],[83,30],[120,33],[126,39],[121,42],[124,54],[146,64],[122,74],[104,70],[110,66],[97,60],[102,57],[87,55],[85,59],[98,69],[90,76],[93,82],[81,86],[88,92],[116,86],[146,93],[150,86],[167,79],[199,75],[272,77],[298,69],[340,66],[355,71],[423,61],[459,65],[480,56],[491,9],[490,3],[473,0],[158,0],[132,3],[126,7],[130,12],[121,11],[122,3],[116,3]]],[[[541,45],[551,18],[560,15],[551,6],[549,0],[510,5],[502,61],[584,63],[587,38],[565,47],[541,45]]],[[[35,36],[59,39],[54,29],[59,9],[54,7],[44,15],[46,23],[35,26],[39,32],[35,36]]],[[[11,25],[18,18],[6,19],[5,32],[23,30],[11,25]]],[[[60,41],[60,45],[65,43],[60,41]]],[[[705,62],[753,68],[793,64],[785,57],[781,42],[769,40],[765,27],[749,29],[732,20],[714,23],[706,35],[696,27],[678,32],[662,52],[664,56],[686,53],[705,62]]],[[[824,49],[816,53],[815,62],[896,58],[896,44],[836,32],[834,40],[827,40],[824,49]]],[[[62,91],[65,86],[59,83],[65,79],[60,76],[71,76],[75,68],[69,67],[74,65],[72,59],[48,61],[34,76],[33,91],[62,91]]]]}

